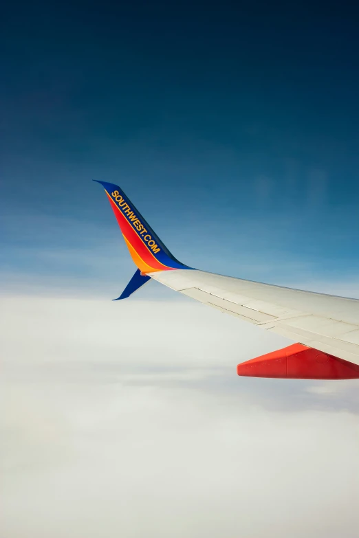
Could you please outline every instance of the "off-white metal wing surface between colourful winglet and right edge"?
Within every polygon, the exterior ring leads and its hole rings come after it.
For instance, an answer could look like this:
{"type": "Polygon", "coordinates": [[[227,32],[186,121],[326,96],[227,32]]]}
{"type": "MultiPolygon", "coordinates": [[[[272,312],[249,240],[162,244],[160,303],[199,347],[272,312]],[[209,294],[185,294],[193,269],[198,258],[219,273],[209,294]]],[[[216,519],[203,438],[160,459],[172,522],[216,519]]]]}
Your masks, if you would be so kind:
{"type": "Polygon", "coordinates": [[[191,269],[149,276],[221,312],[359,365],[359,300],[191,269]]]}

